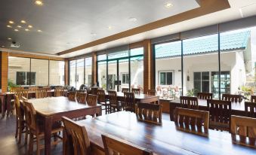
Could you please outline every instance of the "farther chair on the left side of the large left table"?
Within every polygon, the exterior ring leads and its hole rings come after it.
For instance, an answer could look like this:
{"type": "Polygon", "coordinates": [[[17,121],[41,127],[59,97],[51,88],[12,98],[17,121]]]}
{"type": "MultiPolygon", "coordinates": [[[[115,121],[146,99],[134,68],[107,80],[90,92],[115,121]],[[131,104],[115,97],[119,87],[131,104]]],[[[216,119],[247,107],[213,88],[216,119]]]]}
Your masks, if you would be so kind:
{"type": "Polygon", "coordinates": [[[25,117],[24,117],[24,111],[22,110],[22,108],[20,106],[20,99],[18,98],[18,96],[15,96],[15,95],[14,95],[14,105],[15,105],[15,109],[16,109],[16,133],[15,133],[15,138],[18,137],[18,144],[20,144],[21,135],[23,133],[26,133],[26,135],[25,135],[25,143],[26,143],[28,132],[26,132],[27,131],[27,129],[26,129],[27,126],[26,126],[26,120],[25,120],[25,117]]]}

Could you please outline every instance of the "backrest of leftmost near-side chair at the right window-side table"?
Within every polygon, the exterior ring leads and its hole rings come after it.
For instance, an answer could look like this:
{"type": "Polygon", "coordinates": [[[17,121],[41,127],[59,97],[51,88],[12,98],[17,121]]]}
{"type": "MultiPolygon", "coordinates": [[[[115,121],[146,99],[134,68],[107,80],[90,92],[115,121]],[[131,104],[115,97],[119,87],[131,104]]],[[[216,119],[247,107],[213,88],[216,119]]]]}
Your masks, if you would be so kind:
{"type": "Polygon", "coordinates": [[[197,97],[180,96],[180,105],[182,108],[199,109],[197,97]]]}

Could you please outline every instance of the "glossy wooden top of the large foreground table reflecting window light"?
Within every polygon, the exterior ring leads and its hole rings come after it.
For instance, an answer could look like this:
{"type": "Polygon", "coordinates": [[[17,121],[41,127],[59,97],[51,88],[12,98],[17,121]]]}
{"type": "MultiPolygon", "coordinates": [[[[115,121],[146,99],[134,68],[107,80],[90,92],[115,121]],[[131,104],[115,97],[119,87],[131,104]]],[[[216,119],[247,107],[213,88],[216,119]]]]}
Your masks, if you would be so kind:
{"type": "Polygon", "coordinates": [[[168,120],[162,120],[162,126],[140,122],[127,111],[78,123],[85,126],[90,141],[102,148],[101,134],[106,134],[149,148],[155,154],[256,154],[256,149],[233,144],[228,132],[210,129],[208,137],[203,137],[177,130],[168,120]]]}

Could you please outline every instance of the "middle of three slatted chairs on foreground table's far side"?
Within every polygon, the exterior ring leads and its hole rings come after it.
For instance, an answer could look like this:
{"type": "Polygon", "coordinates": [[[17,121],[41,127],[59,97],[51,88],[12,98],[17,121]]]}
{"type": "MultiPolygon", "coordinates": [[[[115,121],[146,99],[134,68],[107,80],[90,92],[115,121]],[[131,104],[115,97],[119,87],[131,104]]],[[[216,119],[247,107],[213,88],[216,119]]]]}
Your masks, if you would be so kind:
{"type": "Polygon", "coordinates": [[[177,129],[197,135],[208,136],[209,112],[188,108],[175,108],[177,129]]]}

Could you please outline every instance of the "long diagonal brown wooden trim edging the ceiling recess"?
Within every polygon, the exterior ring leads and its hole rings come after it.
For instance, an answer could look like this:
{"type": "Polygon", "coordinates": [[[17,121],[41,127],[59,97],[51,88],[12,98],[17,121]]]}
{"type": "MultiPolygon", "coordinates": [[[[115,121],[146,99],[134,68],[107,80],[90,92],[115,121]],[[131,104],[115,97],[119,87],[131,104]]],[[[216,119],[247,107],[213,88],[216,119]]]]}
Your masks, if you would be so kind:
{"type": "Polygon", "coordinates": [[[118,39],[125,38],[125,37],[131,36],[131,35],[137,35],[137,34],[147,32],[147,31],[150,31],[153,29],[159,29],[161,27],[169,26],[174,23],[180,23],[185,20],[191,20],[196,17],[201,17],[206,14],[211,14],[211,13],[214,13],[217,11],[222,11],[224,9],[230,8],[230,4],[229,4],[228,0],[198,0],[197,2],[199,2],[199,5],[200,5],[199,8],[195,8],[190,11],[185,11],[183,13],[176,14],[174,16],[167,17],[162,20],[157,20],[155,22],[148,23],[143,26],[138,26],[134,29],[129,29],[127,31],[120,32],[115,35],[110,35],[108,37],[101,38],[96,41],[91,41],[89,43],[82,44],[78,47],[73,47],[69,50],[63,50],[62,52],[57,53],[57,55],[60,56],[60,55],[66,54],[66,53],[72,53],[72,52],[75,52],[76,50],[83,50],[88,47],[94,47],[99,44],[104,44],[104,43],[107,43],[110,41],[116,41],[118,39]]]}

